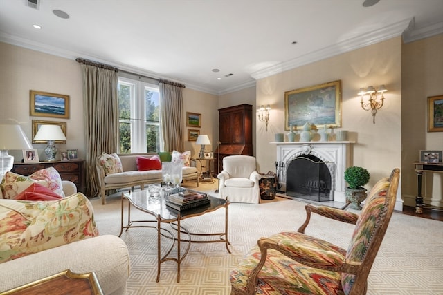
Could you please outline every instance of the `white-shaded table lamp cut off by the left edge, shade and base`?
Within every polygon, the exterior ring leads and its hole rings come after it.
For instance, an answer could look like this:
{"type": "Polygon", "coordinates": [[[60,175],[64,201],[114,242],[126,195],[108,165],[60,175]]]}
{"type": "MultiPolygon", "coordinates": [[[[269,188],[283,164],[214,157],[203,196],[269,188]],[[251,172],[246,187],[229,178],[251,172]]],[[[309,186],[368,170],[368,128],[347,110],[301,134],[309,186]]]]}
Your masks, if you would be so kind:
{"type": "Polygon", "coordinates": [[[14,166],[14,157],[8,154],[8,150],[12,149],[33,149],[33,146],[19,124],[0,124],[1,176],[5,175],[14,166]]]}

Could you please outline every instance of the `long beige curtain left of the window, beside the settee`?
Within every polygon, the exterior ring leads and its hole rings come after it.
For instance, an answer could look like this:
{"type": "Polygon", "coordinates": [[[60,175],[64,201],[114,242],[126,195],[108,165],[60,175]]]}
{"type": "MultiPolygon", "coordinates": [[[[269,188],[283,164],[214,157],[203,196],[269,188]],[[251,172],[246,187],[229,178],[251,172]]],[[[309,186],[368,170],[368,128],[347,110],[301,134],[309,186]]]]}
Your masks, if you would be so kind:
{"type": "Polygon", "coordinates": [[[86,135],[87,196],[99,192],[96,158],[116,153],[118,145],[118,69],[77,59],[83,72],[84,133],[86,135]]]}

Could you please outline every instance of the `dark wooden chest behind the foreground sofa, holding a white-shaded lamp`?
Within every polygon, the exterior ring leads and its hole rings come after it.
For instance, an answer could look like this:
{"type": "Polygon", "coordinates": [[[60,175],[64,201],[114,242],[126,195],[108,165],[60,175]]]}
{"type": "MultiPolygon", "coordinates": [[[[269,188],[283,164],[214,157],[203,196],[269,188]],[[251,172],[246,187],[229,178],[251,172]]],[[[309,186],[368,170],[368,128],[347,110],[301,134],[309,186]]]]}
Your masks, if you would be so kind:
{"type": "Polygon", "coordinates": [[[62,180],[73,182],[77,186],[77,191],[84,193],[83,163],[83,160],[14,163],[11,172],[28,176],[40,169],[54,167],[60,173],[62,180]]]}

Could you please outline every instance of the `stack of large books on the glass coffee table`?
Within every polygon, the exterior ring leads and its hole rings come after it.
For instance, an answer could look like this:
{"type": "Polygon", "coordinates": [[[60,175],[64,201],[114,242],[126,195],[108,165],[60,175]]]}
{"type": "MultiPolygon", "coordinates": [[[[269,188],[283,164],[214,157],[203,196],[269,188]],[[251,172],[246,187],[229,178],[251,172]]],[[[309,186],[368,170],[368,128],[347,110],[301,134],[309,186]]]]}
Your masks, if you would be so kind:
{"type": "Polygon", "coordinates": [[[206,193],[190,190],[172,193],[165,202],[166,206],[178,211],[185,211],[210,204],[210,200],[208,199],[206,193]]]}

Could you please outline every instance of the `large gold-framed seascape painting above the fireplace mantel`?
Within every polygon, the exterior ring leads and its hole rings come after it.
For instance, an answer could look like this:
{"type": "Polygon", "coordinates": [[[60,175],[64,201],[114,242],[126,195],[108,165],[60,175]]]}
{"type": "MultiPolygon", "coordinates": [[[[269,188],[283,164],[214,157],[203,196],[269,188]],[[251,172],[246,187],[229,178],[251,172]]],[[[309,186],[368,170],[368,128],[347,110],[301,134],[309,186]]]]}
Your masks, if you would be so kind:
{"type": "Polygon", "coordinates": [[[285,130],[307,122],[317,129],[341,127],[341,80],[285,92],[284,119],[285,130]]]}

